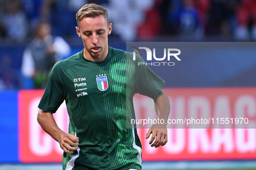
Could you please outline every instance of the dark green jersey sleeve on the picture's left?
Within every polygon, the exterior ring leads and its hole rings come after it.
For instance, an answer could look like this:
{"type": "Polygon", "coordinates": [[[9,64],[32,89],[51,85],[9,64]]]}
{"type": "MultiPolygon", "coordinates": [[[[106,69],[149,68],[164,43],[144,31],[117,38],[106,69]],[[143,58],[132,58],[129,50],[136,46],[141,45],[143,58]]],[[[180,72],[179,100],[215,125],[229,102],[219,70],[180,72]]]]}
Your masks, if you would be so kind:
{"type": "Polygon", "coordinates": [[[66,96],[67,92],[62,82],[62,70],[59,62],[57,62],[52,68],[45,92],[38,107],[46,112],[55,113],[66,96]]]}

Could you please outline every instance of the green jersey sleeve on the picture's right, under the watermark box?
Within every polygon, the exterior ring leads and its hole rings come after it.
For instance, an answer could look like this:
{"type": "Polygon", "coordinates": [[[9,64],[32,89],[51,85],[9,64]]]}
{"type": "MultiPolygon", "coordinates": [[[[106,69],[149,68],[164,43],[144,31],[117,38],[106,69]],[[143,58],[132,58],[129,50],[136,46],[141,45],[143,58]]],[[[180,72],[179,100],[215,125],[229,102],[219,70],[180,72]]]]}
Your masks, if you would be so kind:
{"type": "Polygon", "coordinates": [[[156,101],[162,94],[165,81],[157,76],[149,66],[138,65],[139,62],[145,63],[142,57],[136,56],[135,93],[146,95],[156,101]]]}

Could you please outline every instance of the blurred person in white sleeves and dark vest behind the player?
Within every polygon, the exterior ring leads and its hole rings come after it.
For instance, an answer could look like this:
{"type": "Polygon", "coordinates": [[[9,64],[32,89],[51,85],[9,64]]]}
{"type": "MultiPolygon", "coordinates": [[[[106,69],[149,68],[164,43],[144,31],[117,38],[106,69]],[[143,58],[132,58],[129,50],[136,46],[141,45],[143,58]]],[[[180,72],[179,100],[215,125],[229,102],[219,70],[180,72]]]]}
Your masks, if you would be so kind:
{"type": "Polygon", "coordinates": [[[39,22],[35,38],[23,53],[23,76],[34,79],[35,88],[45,88],[52,66],[70,51],[69,44],[62,37],[51,34],[48,22],[39,22]]]}

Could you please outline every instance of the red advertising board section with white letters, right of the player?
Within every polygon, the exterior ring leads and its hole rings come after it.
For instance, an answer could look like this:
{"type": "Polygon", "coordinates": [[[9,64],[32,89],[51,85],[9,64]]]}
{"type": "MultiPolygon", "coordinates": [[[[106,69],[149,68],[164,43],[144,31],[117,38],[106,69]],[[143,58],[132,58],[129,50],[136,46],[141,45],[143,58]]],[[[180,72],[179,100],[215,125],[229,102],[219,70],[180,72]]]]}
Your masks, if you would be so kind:
{"type": "MultiPolygon", "coordinates": [[[[256,159],[256,88],[169,88],[165,92],[171,104],[170,119],[204,115],[215,121],[203,129],[168,129],[168,143],[159,148],[151,148],[146,129],[139,129],[144,161],[256,159]],[[232,117],[249,122],[221,124],[221,118],[232,117]],[[251,129],[242,129],[246,127],[251,129]]],[[[144,96],[134,100],[139,114],[154,107],[144,96]]]]}

